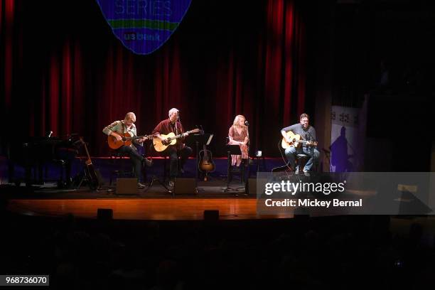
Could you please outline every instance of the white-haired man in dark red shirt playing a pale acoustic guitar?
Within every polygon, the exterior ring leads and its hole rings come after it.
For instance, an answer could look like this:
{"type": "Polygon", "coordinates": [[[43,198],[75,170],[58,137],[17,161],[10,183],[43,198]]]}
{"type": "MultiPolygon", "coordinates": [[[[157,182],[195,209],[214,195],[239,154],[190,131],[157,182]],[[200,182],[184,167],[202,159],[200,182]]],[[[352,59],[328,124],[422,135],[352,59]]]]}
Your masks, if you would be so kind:
{"type": "MultiPolygon", "coordinates": [[[[161,136],[162,134],[167,135],[173,132],[173,134],[178,135],[184,133],[184,128],[179,117],[180,111],[178,109],[170,109],[168,112],[168,119],[161,121],[156,128],[154,128],[153,134],[161,139],[161,141],[164,141],[165,138],[161,136]]],[[[168,148],[163,152],[164,154],[167,154],[171,160],[169,165],[169,186],[173,186],[174,178],[178,176],[178,156],[180,156],[180,172],[184,173],[183,166],[188,157],[192,154],[192,149],[184,144],[184,137],[182,137],[177,139],[175,145],[168,146],[168,148]]]]}

